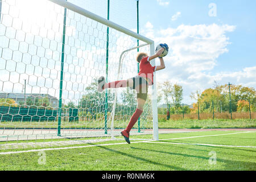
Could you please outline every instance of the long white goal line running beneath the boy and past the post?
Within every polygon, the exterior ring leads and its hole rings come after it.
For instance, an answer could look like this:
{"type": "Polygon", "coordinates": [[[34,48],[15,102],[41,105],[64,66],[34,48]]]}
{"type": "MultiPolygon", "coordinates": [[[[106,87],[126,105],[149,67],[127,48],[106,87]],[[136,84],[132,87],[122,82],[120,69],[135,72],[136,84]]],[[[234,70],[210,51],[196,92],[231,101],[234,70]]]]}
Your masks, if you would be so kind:
{"type": "MultiPolygon", "coordinates": [[[[214,137],[220,135],[232,135],[232,134],[240,134],[240,133],[250,133],[251,131],[239,132],[239,133],[228,133],[228,134],[217,134],[217,135],[203,135],[203,136],[196,136],[196,137],[182,137],[182,138],[170,138],[170,139],[160,139],[160,140],[175,140],[175,139],[185,139],[185,138],[199,138],[199,137],[214,137]]],[[[148,143],[154,142],[155,140],[146,140],[146,141],[139,141],[133,143],[148,143]]],[[[124,143],[106,143],[106,144],[95,144],[89,146],[75,146],[75,147],[59,147],[59,148],[42,148],[42,149],[34,149],[34,150],[27,150],[27,151],[10,151],[10,152],[0,152],[0,155],[7,155],[7,154],[20,154],[20,153],[27,153],[27,152],[39,152],[39,151],[51,151],[51,150],[65,150],[65,149],[73,149],[73,148],[85,148],[85,147],[97,147],[97,146],[112,146],[112,145],[119,145],[119,144],[127,144],[124,143]]]]}

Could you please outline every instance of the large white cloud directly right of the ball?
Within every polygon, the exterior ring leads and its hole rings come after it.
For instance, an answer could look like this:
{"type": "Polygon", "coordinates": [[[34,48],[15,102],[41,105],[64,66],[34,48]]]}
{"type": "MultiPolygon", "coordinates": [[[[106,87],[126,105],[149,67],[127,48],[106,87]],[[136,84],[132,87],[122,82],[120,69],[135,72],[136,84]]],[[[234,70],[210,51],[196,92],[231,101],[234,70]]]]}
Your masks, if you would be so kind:
{"type": "Polygon", "coordinates": [[[209,71],[216,65],[216,59],[228,52],[230,44],[226,32],[234,31],[234,26],[218,26],[217,24],[200,24],[160,30],[155,35],[156,42],[165,42],[172,48],[172,66],[188,65],[186,72],[209,71]]]}

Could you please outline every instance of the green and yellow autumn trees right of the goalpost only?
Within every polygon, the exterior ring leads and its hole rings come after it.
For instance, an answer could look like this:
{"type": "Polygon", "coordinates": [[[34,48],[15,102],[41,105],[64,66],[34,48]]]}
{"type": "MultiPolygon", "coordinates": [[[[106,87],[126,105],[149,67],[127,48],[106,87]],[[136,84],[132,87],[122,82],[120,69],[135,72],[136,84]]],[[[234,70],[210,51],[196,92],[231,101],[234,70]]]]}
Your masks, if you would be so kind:
{"type": "MultiPolygon", "coordinates": [[[[170,105],[172,114],[196,113],[198,108],[201,113],[226,112],[230,111],[230,108],[233,112],[256,111],[255,88],[247,86],[218,85],[215,82],[213,88],[205,89],[203,92],[200,90],[192,92],[190,97],[196,101],[192,105],[181,103],[183,87],[179,84],[164,81],[159,84],[158,91],[158,102],[163,101],[167,109],[170,105]]],[[[165,114],[166,109],[159,109],[159,113],[165,114]]]]}

